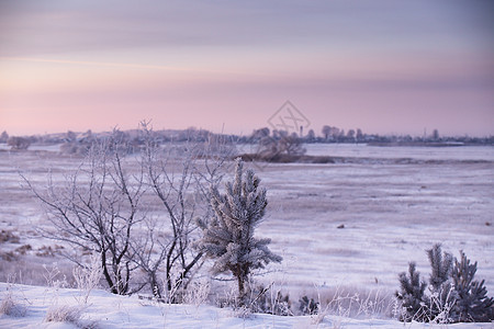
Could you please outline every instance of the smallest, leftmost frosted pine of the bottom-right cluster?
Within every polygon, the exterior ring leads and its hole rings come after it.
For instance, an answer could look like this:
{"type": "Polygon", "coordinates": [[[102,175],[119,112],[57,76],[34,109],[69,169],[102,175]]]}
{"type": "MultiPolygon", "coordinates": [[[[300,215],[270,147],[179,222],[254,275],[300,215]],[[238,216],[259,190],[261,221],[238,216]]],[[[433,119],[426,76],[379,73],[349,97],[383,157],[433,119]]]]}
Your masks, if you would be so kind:
{"type": "Polygon", "coordinates": [[[408,276],[405,272],[400,273],[401,291],[396,292],[403,313],[400,316],[402,321],[425,320],[425,296],[427,284],[420,280],[420,273],[415,270],[415,263],[408,264],[408,276]]]}

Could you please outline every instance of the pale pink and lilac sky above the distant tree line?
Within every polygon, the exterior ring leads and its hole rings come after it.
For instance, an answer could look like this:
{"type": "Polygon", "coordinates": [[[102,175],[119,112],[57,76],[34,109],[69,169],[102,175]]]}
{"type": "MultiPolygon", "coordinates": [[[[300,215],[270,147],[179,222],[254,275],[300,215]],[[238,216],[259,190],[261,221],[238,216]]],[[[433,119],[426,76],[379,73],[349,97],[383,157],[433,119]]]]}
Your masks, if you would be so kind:
{"type": "Polygon", "coordinates": [[[494,135],[494,2],[0,0],[0,131],[494,135]]]}

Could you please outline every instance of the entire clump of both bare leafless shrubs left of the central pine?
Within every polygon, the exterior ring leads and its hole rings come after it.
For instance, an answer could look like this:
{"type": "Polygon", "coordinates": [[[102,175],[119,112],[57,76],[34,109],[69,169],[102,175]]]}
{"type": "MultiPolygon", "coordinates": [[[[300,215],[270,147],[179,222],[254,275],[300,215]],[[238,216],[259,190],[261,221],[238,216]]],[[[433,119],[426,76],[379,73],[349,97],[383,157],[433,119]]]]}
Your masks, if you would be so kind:
{"type": "Polygon", "coordinates": [[[114,294],[148,285],[158,299],[183,295],[203,263],[203,252],[192,248],[199,235],[195,218],[211,216],[209,186],[221,181],[231,146],[217,137],[165,148],[155,137],[143,123],[135,145],[117,131],[92,140],[79,168],[63,184],[49,177],[46,192],[21,174],[52,224],[42,236],[72,247],[47,247],[40,256],[60,251],[83,268],[81,252],[98,254],[114,294]],[[141,157],[130,155],[135,150],[141,157]],[[165,209],[154,217],[148,213],[155,208],[142,205],[153,198],[165,209]]]}

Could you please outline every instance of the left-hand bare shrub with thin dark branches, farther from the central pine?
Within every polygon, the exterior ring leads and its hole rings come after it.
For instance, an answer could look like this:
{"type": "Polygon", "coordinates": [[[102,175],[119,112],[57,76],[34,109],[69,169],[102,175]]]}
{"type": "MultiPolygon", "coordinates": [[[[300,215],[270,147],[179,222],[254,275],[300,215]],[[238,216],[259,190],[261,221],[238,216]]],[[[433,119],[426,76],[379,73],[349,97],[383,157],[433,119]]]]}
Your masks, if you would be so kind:
{"type": "MultiPolygon", "coordinates": [[[[125,170],[121,140],[113,136],[91,146],[78,170],[68,175],[64,186],[49,179],[42,193],[24,177],[33,194],[45,207],[53,229],[42,235],[77,248],[89,248],[100,256],[103,276],[114,294],[130,293],[132,239],[134,225],[142,220],[139,201],[144,174],[125,170]]],[[[66,253],[80,264],[77,254],[66,253]]]]}

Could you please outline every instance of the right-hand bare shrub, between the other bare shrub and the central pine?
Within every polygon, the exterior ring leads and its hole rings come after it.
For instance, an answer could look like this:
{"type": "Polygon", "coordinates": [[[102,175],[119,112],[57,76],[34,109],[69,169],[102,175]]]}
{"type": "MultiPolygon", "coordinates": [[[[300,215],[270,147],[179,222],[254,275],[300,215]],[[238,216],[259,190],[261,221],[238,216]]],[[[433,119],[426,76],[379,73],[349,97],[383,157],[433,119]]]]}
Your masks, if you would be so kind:
{"type": "Polygon", "coordinates": [[[229,146],[210,138],[209,143],[161,147],[147,123],[142,124],[142,168],[165,213],[157,219],[146,219],[148,234],[135,245],[134,261],[147,274],[156,298],[168,296],[177,303],[203,263],[203,252],[192,248],[195,218],[211,216],[209,186],[221,181],[229,146]],[[171,234],[160,235],[156,229],[159,226],[171,234]],[[158,279],[161,269],[165,284],[158,279]]]}

